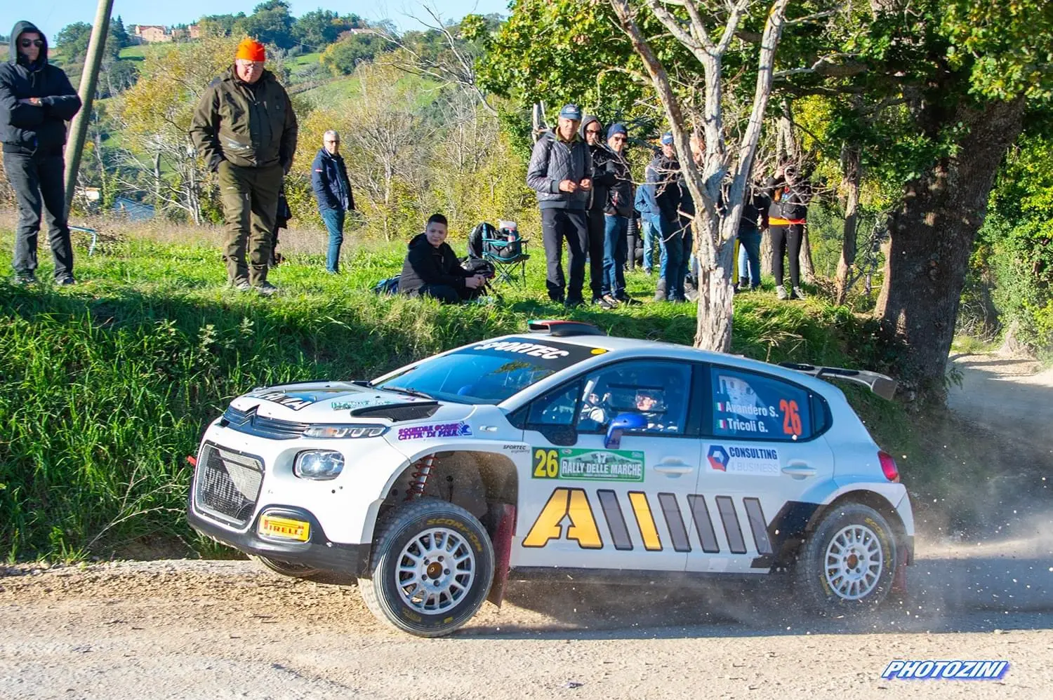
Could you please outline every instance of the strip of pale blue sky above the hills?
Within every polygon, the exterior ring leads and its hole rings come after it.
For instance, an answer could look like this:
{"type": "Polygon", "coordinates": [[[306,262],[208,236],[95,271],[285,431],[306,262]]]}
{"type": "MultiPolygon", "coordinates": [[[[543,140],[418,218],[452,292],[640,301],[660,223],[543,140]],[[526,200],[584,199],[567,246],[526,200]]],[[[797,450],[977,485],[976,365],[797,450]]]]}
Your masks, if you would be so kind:
{"type": "MultiPolygon", "coordinates": [[[[202,15],[245,13],[251,15],[260,0],[180,0],[154,2],[153,0],[114,0],[113,16],[121,16],[124,26],[130,24],[190,24],[202,15]]],[[[508,0],[429,0],[440,9],[443,19],[460,19],[478,13],[508,15],[508,0]]],[[[400,29],[419,28],[410,15],[426,17],[420,0],[291,0],[294,17],[322,7],[340,15],[355,14],[365,19],[390,19],[400,29]]],[[[6,35],[15,22],[28,20],[40,27],[48,38],[55,37],[66,24],[95,21],[96,0],[36,0],[27,11],[21,9],[17,0],[0,2],[0,34],[6,35]]]]}

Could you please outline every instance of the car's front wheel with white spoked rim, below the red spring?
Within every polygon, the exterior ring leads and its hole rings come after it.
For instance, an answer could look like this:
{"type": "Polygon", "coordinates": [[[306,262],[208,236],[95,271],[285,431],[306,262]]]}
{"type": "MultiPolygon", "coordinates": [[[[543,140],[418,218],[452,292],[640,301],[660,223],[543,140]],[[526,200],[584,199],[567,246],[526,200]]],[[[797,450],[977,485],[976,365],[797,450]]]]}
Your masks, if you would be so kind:
{"type": "Polygon", "coordinates": [[[382,622],[418,637],[441,637],[472,619],[493,580],[486,529],[464,508],[428,498],[393,509],[377,524],[370,577],[359,579],[358,588],[382,622]],[[463,559],[446,568],[458,554],[463,559]],[[400,571],[403,558],[415,573],[400,571]]]}

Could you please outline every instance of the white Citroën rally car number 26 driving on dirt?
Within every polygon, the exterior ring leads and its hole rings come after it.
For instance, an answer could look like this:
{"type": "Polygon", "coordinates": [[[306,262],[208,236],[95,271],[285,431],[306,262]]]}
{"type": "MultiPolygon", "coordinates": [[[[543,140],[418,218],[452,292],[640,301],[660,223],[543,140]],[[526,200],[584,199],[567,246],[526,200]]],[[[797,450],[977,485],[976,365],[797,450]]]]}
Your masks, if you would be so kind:
{"type": "Polygon", "coordinates": [[[359,579],[448,634],[509,578],[772,574],[819,613],[871,609],[913,558],[893,459],[837,376],[569,321],[372,382],[254,391],[205,431],[188,519],[282,574],[359,579]]]}

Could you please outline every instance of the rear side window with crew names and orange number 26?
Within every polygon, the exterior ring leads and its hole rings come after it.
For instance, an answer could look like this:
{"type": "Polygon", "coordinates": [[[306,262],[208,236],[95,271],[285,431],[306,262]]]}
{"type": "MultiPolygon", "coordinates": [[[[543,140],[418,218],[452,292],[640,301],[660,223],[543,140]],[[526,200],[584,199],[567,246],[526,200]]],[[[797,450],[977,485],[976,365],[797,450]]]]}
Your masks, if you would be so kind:
{"type": "Polygon", "coordinates": [[[788,441],[815,435],[811,397],[800,386],[728,367],[715,366],[711,373],[712,435],[788,441]]]}

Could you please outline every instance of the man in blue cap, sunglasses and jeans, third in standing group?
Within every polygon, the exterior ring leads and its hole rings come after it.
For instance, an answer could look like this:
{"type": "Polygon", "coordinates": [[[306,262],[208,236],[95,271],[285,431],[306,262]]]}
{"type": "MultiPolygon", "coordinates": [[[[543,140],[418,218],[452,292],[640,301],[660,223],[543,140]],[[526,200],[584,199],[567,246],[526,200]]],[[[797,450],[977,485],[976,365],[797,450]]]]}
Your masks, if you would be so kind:
{"type": "MultiPolygon", "coordinates": [[[[625,294],[625,259],[629,256],[629,222],[633,209],[633,175],[625,160],[629,132],[624,124],[611,124],[603,148],[602,177],[610,181],[603,204],[603,299],[609,303],[639,303],[625,294]]],[[[600,166],[593,160],[594,180],[599,182],[600,166]]],[[[599,192],[596,185],[595,192],[599,192]]],[[[634,251],[635,253],[635,251],[634,251]]]]}

